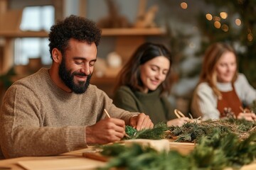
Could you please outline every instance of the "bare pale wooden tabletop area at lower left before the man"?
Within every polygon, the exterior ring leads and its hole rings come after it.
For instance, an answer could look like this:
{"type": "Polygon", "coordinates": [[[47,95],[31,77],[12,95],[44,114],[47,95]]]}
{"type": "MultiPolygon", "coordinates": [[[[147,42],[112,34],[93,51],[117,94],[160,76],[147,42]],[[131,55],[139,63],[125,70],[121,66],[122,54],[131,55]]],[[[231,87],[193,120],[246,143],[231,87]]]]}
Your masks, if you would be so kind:
{"type": "Polygon", "coordinates": [[[0,161],[0,170],[24,170],[24,169],[96,169],[97,166],[105,166],[105,162],[82,157],[82,152],[88,149],[80,149],[58,156],[51,157],[19,157],[14,159],[4,159],[0,161]],[[22,165],[22,166],[21,166],[22,165]],[[26,168],[25,168],[26,167],[26,168]]]}

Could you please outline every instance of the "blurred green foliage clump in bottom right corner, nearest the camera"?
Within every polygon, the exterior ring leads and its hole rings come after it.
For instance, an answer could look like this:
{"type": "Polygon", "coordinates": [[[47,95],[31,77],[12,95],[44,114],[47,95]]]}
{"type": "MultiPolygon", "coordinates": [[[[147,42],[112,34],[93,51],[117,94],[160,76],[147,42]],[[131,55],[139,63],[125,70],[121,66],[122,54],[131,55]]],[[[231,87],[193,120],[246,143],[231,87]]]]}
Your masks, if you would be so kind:
{"type": "Polygon", "coordinates": [[[201,167],[209,164],[213,169],[220,169],[220,167],[223,169],[225,166],[240,167],[254,161],[255,140],[256,132],[242,141],[238,135],[231,132],[227,135],[216,132],[212,138],[202,137],[191,155],[195,158],[196,164],[201,167]]]}

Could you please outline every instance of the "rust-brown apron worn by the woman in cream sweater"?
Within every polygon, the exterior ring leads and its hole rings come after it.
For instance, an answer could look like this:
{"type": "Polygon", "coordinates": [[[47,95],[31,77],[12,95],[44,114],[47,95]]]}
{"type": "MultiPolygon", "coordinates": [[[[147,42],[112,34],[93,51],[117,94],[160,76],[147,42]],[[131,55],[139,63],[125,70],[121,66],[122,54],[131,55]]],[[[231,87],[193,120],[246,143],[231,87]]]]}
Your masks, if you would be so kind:
{"type": "MultiPolygon", "coordinates": [[[[233,85],[232,85],[233,86],[233,85]]],[[[222,99],[218,100],[217,108],[220,112],[220,118],[235,115],[235,118],[241,113],[242,103],[235,93],[233,86],[232,91],[220,91],[222,99]]]]}

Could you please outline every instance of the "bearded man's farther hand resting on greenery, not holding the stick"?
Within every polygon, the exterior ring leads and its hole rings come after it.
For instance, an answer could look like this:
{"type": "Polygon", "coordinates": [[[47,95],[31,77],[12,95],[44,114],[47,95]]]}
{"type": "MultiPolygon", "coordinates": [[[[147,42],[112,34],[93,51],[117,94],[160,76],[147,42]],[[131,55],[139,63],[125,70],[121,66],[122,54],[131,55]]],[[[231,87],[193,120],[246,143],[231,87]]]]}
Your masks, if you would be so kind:
{"type": "Polygon", "coordinates": [[[135,115],[129,120],[129,125],[137,130],[149,129],[153,128],[154,124],[152,123],[149,115],[145,115],[144,113],[140,113],[139,115],[135,115]]]}

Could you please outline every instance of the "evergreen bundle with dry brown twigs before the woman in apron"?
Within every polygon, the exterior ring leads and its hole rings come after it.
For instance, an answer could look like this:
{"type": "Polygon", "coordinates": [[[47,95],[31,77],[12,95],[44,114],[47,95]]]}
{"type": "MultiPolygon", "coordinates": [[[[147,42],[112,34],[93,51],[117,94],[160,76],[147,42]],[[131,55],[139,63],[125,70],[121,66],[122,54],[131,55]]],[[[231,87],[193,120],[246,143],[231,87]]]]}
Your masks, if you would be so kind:
{"type": "Polygon", "coordinates": [[[218,132],[225,136],[226,134],[233,132],[238,137],[247,137],[250,131],[254,130],[256,126],[255,122],[247,120],[238,120],[235,118],[223,119],[223,120],[208,120],[201,123],[186,123],[181,127],[170,127],[167,133],[167,138],[177,137],[176,142],[198,142],[203,136],[213,137],[213,134],[218,132]]]}

